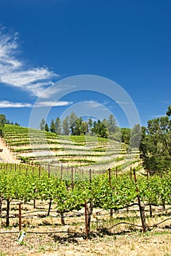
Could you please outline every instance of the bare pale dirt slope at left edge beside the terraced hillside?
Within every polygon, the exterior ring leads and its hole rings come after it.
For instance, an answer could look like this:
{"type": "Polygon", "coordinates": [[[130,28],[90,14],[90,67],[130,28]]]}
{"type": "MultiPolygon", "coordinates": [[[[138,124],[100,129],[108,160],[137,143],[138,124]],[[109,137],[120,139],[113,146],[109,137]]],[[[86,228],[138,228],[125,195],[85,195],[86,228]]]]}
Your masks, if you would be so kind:
{"type": "Polygon", "coordinates": [[[3,149],[3,151],[0,151],[0,162],[12,162],[12,163],[19,163],[20,160],[16,159],[12,152],[9,151],[9,148],[4,143],[3,138],[0,138],[0,149],[3,149]]]}

